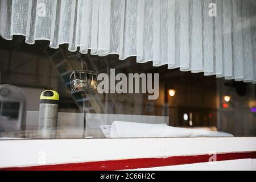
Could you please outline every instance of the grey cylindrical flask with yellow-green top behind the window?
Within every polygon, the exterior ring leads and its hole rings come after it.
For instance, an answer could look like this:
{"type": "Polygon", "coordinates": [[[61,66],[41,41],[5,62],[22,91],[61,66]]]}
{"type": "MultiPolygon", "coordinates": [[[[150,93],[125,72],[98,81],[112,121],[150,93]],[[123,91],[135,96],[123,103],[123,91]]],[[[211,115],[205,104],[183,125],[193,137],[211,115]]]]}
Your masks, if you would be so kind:
{"type": "Polygon", "coordinates": [[[56,138],[59,94],[45,90],[40,96],[39,137],[56,138]]]}

